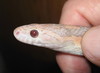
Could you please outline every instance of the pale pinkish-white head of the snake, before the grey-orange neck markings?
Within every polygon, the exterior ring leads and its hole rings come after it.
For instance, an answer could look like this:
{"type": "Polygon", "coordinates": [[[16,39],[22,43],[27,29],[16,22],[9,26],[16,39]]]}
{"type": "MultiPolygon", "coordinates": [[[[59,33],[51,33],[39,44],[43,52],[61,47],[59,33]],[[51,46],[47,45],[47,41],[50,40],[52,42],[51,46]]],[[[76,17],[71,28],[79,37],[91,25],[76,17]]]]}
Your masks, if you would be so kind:
{"type": "Polygon", "coordinates": [[[48,28],[50,28],[50,26],[45,24],[24,25],[14,30],[14,36],[23,43],[47,48],[58,47],[58,45],[60,45],[59,42],[61,42],[59,41],[59,36],[47,30],[48,28]]]}

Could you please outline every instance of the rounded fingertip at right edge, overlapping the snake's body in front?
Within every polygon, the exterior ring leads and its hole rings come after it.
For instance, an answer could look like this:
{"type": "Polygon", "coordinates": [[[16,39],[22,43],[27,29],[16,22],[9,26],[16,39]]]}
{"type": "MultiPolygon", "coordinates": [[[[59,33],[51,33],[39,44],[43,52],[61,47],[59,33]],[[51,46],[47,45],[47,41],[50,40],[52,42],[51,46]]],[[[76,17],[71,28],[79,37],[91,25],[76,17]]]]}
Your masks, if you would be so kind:
{"type": "Polygon", "coordinates": [[[84,55],[94,64],[100,66],[100,26],[93,27],[83,37],[84,55]]]}

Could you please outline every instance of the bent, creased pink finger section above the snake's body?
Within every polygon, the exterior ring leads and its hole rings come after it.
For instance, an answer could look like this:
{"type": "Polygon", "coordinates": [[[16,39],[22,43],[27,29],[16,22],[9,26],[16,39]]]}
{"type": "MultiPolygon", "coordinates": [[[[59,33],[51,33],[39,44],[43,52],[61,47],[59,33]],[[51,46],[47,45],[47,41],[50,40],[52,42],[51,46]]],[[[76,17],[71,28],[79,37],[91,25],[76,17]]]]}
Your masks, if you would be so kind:
{"type": "Polygon", "coordinates": [[[100,0],[68,0],[62,10],[60,23],[71,25],[100,25],[100,0]]]}

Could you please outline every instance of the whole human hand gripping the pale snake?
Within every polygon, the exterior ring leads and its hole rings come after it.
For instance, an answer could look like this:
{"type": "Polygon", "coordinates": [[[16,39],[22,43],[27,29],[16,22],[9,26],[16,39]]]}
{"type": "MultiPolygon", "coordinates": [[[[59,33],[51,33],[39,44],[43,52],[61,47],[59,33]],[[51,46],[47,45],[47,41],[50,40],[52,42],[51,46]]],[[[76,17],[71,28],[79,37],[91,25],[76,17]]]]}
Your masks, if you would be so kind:
{"type": "Polygon", "coordinates": [[[85,58],[63,53],[57,54],[57,62],[62,72],[91,73],[86,58],[100,66],[100,0],[68,0],[64,4],[60,24],[93,26],[82,40],[85,58]]]}

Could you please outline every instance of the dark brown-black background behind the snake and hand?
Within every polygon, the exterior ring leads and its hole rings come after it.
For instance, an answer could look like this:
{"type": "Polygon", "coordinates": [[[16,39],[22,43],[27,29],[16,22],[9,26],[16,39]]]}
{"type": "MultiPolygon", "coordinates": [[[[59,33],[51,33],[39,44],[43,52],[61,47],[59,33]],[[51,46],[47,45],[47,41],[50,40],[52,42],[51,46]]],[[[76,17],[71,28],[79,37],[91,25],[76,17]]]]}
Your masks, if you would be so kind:
{"type": "Polygon", "coordinates": [[[30,23],[59,23],[65,1],[0,0],[0,73],[61,73],[54,51],[18,42],[13,30],[30,23]]]}

